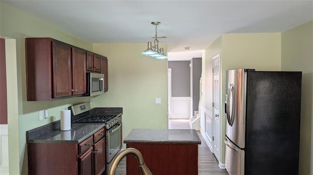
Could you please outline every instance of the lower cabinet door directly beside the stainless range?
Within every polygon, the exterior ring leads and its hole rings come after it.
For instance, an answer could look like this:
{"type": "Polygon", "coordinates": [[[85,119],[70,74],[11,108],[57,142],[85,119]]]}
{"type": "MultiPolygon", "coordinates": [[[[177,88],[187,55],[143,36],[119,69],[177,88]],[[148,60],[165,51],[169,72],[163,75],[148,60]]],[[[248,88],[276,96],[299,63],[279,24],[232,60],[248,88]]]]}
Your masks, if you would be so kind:
{"type": "Polygon", "coordinates": [[[93,145],[94,149],[94,175],[101,175],[106,169],[105,137],[93,145]]]}

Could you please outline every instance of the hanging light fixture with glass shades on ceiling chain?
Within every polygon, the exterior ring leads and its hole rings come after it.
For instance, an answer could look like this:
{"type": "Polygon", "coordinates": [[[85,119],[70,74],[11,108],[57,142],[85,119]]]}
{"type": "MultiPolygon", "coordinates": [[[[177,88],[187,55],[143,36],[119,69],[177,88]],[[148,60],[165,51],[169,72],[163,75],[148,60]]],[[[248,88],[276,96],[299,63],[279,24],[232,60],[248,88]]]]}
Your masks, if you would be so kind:
{"type": "MultiPolygon", "coordinates": [[[[157,26],[158,24],[160,24],[161,22],[151,22],[151,24],[157,26]]],[[[157,31],[155,33],[155,40],[154,40],[154,45],[152,46],[151,41],[148,42],[148,48],[141,52],[142,55],[146,55],[149,57],[153,57],[156,59],[167,59],[168,57],[166,55],[164,55],[164,50],[163,48],[158,48],[158,39],[157,39],[157,31]]]]}

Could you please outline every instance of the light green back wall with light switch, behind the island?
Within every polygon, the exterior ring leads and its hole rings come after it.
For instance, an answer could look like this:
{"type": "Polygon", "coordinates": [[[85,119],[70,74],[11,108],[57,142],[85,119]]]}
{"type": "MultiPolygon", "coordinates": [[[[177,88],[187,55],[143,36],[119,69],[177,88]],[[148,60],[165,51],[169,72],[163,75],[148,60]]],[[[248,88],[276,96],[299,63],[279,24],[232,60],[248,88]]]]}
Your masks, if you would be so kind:
{"type": "MultiPolygon", "coordinates": [[[[166,44],[160,47],[166,49],[166,44]]],[[[134,128],[167,129],[167,59],[141,55],[147,43],[94,44],[93,48],[108,57],[109,91],[93,98],[92,104],[123,107],[123,139],[134,128]],[[155,98],[162,103],[155,104],[155,98]]]]}

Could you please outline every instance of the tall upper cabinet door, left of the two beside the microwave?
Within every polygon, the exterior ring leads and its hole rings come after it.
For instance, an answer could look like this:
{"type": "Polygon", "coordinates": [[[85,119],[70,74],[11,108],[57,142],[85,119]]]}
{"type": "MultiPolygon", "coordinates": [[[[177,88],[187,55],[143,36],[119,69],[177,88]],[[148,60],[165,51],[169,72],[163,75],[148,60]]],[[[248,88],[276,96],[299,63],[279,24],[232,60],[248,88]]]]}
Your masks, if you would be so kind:
{"type": "Polygon", "coordinates": [[[70,45],[52,41],[53,98],[72,95],[72,68],[70,45]]]}

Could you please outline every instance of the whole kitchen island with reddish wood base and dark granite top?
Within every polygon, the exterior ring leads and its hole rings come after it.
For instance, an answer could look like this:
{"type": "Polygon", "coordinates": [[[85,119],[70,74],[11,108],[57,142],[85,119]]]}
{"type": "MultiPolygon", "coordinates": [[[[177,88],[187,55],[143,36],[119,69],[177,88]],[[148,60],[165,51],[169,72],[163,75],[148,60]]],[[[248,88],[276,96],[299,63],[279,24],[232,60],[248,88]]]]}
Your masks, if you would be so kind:
{"type": "MultiPolygon", "coordinates": [[[[124,139],[127,148],[142,154],[154,175],[198,175],[198,144],[194,129],[133,129],[124,139]]],[[[126,158],[127,175],[138,175],[136,158],[126,158]]]]}

